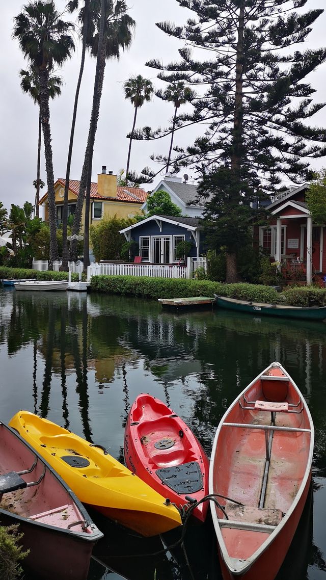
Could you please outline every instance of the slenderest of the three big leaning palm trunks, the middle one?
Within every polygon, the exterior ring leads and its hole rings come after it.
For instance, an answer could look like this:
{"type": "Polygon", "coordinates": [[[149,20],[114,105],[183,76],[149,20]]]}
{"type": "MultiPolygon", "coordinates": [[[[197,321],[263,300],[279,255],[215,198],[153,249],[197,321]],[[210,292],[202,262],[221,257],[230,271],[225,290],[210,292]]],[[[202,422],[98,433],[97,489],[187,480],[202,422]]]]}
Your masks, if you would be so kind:
{"type": "MultiPolygon", "coordinates": [[[[81,66],[79,68],[79,76],[75,93],[74,111],[73,111],[73,121],[71,122],[70,131],[70,142],[68,149],[68,159],[67,159],[67,170],[66,170],[66,183],[64,186],[64,199],[63,199],[63,221],[62,221],[62,264],[60,270],[68,271],[68,240],[67,240],[67,224],[68,224],[68,191],[69,191],[69,179],[70,179],[70,166],[71,157],[73,155],[73,144],[74,144],[74,133],[75,124],[77,117],[77,107],[79,99],[79,90],[81,88],[82,75],[84,73],[85,65],[85,54],[86,54],[86,38],[88,31],[88,21],[89,21],[89,0],[85,0],[85,17],[84,17],[84,31],[82,36],[82,56],[81,56],[81,66]]],[[[80,227],[80,224],[79,224],[80,227]]],[[[79,228],[78,228],[79,231],[79,228]]],[[[77,234],[78,234],[77,231],[77,234]]],[[[77,247],[77,244],[76,244],[77,247]]],[[[77,256],[76,256],[77,258],[77,256]]]]}

